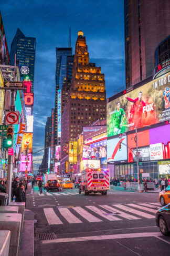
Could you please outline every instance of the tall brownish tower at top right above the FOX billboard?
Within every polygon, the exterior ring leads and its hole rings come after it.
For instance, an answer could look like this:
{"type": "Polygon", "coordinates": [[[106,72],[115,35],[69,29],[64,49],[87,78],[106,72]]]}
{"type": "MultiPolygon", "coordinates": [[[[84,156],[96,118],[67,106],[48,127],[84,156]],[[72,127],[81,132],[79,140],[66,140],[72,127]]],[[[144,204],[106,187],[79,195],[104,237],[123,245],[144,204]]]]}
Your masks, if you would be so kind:
{"type": "Polygon", "coordinates": [[[156,46],[169,35],[169,0],[124,0],[126,88],[152,75],[156,46]]]}

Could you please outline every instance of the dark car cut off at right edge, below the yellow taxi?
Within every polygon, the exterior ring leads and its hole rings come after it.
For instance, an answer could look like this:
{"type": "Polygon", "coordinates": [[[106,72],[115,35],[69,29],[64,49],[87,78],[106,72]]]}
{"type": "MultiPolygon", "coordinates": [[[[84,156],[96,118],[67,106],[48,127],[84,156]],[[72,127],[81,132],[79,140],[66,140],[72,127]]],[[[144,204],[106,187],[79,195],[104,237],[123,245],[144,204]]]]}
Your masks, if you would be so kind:
{"type": "Polygon", "coordinates": [[[156,211],[156,225],[163,235],[170,234],[170,203],[156,211]]]}

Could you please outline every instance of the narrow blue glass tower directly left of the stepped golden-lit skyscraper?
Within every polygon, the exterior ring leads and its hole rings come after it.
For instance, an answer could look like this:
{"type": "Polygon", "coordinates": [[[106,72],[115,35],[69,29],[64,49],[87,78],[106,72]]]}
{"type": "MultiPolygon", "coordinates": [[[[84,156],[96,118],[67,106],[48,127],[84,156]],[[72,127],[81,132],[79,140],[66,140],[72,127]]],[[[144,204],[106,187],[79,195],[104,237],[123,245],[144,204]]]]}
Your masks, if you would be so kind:
{"type": "Polygon", "coordinates": [[[60,143],[58,139],[58,90],[62,88],[66,77],[67,56],[72,55],[72,47],[56,47],[56,101],[55,101],[55,145],[60,143]]]}

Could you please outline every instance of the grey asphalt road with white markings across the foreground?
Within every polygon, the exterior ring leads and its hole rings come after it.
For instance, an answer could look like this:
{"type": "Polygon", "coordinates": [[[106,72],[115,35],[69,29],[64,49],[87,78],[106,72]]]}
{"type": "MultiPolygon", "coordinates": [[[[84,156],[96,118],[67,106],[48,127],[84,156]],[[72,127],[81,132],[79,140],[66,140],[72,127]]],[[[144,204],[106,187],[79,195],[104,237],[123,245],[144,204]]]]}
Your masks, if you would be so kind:
{"type": "Polygon", "coordinates": [[[35,256],[170,255],[170,237],[155,224],[158,194],[77,189],[27,196],[35,213],[35,256]]]}

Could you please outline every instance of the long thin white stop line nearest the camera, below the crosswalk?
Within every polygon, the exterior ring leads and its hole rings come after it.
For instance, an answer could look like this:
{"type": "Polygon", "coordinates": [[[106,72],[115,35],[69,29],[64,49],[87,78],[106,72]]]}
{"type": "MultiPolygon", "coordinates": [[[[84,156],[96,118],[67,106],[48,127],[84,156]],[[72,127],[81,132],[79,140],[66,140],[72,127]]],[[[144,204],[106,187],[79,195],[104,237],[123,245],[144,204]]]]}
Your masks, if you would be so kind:
{"type": "Polygon", "coordinates": [[[126,238],[146,238],[156,237],[160,232],[145,232],[145,233],[130,233],[130,234],[111,234],[111,235],[96,235],[92,237],[76,237],[76,238],[59,238],[54,240],[45,240],[42,243],[68,243],[68,242],[84,242],[96,240],[110,240],[110,239],[126,239],[126,238]]]}

